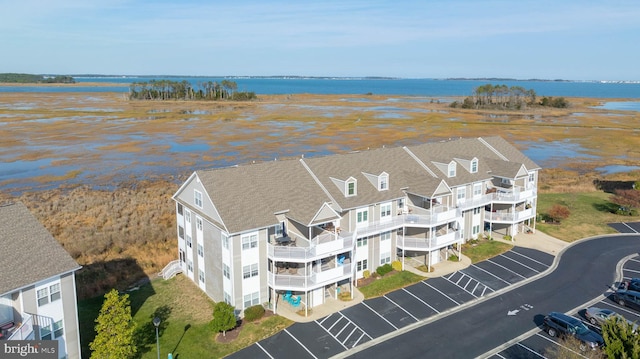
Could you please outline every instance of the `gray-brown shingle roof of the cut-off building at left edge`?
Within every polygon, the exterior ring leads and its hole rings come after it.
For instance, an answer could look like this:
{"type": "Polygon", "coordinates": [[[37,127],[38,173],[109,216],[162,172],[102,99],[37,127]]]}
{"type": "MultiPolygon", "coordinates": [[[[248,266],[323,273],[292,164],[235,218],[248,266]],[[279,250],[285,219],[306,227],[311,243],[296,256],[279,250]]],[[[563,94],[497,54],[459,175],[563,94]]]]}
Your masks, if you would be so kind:
{"type": "Polygon", "coordinates": [[[80,266],[22,203],[0,206],[0,295],[80,266]]]}

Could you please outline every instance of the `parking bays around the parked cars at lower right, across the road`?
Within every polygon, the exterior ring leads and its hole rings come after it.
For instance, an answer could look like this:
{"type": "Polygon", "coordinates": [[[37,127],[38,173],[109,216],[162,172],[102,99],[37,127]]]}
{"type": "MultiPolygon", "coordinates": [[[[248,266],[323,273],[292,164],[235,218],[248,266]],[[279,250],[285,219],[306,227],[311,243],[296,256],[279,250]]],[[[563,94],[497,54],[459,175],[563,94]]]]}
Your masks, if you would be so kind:
{"type": "MultiPolygon", "coordinates": [[[[631,279],[634,277],[640,277],[640,257],[635,256],[626,261],[622,267],[623,278],[631,279]]],[[[615,286],[615,283],[612,283],[615,286]]],[[[618,314],[624,316],[626,319],[632,322],[640,321],[640,313],[635,310],[622,307],[615,303],[611,298],[612,291],[604,293],[605,299],[598,301],[592,306],[610,309],[618,314]]],[[[577,313],[570,313],[577,319],[584,322],[590,329],[594,329],[600,332],[600,327],[593,326],[586,319],[584,312],[586,308],[581,308],[577,313]]],[[[542,330],[536,331],[533,335],[513,344],[507,349],[500,351],[499,353],[491,356],[493,359],[507,359],[507,358],[549,358],[548,353],[554,346],[560,346],[558,338],[550,337],[546,332],[542,330]]]]}

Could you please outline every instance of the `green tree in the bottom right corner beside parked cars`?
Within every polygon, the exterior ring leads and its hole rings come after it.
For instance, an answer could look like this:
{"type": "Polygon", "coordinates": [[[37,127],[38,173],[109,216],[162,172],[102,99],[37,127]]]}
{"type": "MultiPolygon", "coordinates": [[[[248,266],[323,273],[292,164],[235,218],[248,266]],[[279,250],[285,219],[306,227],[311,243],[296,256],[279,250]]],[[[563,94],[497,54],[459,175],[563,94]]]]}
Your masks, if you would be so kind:
{"type": "Polygon", "coordinates": [[[609,358],[640,358],[640,336],[633,331],[633,324],[618,317],[602,324],[604,352],[609,358]]]}

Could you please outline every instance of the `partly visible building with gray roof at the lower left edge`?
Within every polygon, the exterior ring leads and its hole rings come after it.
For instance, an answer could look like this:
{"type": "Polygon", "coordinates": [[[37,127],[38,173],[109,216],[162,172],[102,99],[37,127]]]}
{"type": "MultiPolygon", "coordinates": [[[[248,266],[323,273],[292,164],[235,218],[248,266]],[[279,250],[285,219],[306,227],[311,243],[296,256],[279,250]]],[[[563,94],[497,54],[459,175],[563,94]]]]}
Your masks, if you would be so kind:
{"type": "Polygon", "coordinates": [[[0,244],[0,341],[56,340],[58,358],[80,358],[80,266],[22,203],[0,204],[0,244]]]}

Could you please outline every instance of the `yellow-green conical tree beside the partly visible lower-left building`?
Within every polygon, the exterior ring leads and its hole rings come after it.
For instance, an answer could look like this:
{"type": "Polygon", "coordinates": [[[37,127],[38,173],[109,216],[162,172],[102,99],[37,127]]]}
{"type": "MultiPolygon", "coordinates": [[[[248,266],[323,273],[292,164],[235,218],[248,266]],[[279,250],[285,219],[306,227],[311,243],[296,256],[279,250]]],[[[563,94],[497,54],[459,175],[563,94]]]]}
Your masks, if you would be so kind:
{"type": "Polygon", "coordinates": [[[119,295],[115,289],[105,294],[96,323],[96,337],[89,344],[91,359],[134,357],[136,325],[128,294],[119,295]]]}

